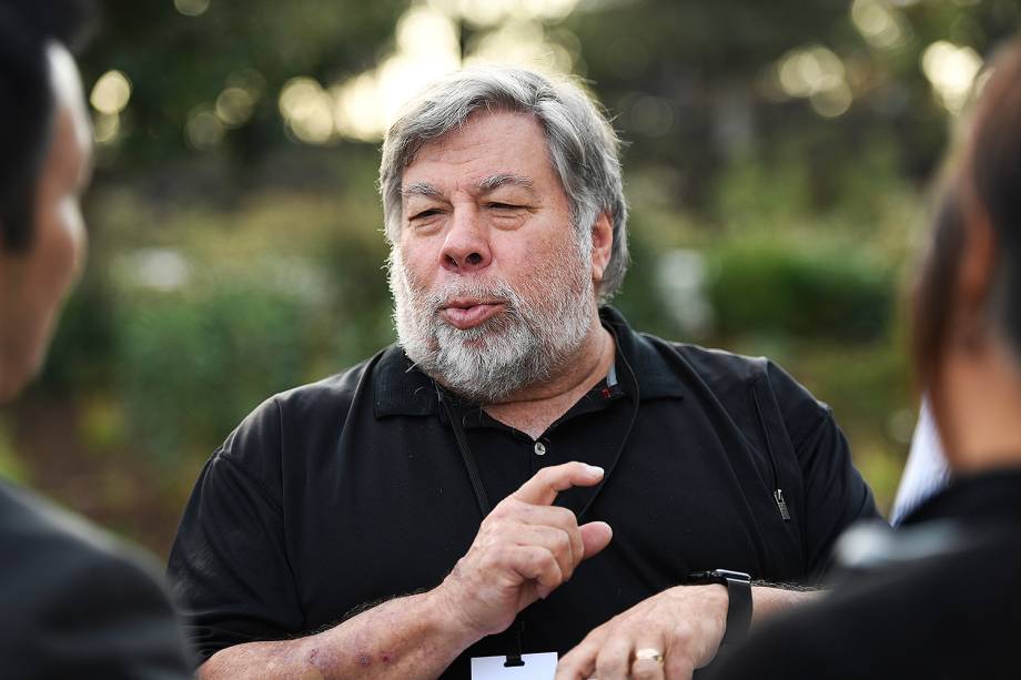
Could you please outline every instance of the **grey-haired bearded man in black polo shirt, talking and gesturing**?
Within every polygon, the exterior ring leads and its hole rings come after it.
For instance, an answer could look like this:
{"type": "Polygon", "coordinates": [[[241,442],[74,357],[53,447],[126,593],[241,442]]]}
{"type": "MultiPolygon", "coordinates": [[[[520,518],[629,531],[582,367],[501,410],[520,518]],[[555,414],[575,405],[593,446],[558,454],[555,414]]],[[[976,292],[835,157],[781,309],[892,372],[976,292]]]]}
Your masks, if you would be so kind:
{"type": "Polygon", "coordinates": [[[717,568],[806,579],[875,515],[787,374],[599,307],[627,211],[575,87],[442,81],[381,190],[398,345],[264,403],[182,519],[201,677],[684,678],[807,597],[717,568]]]}

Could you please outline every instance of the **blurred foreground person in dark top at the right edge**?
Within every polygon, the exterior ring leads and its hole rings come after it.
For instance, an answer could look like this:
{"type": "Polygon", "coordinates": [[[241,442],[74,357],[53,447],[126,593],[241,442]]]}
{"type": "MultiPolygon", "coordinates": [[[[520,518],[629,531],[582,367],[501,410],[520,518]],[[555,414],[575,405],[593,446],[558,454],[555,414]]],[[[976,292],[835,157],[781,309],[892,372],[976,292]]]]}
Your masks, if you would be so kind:
{"type": "Polygon", "coordinates": [[[950,487],[896,532],[841,539],[843,582],[714,677],[1021,674],[1021,40],[992,69],[914,297],[914,359],[950,487]]]}

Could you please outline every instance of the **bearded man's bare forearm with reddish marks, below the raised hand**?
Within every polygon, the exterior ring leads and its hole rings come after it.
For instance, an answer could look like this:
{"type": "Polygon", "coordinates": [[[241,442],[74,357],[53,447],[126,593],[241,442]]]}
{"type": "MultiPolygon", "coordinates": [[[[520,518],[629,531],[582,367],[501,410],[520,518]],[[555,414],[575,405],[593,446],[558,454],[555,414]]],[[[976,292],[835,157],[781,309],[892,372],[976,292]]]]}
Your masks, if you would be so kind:
{"type": "Polygon", "coordinates": [[[475,642],[437,600],[397,598],[314,636],[229,647],[199,678],[436,678],[475,642]]]}

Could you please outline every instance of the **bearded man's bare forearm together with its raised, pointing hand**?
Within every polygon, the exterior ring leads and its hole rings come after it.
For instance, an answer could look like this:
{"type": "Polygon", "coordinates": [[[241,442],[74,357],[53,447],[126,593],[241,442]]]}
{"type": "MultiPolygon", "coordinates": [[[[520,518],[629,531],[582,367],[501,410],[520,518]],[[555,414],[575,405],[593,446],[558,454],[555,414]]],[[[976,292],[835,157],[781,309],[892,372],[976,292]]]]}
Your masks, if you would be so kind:
{"type": "Polygon", "coordinates": [[[223,649],[199,677],[436,678],[609,544],[608,525],[579,527],[574,512],[553,506],[559,491],[602,479],[603,468],[583,463],[545,467],[486,516],[467,554],[433,590],[391,600],[307,638],[223,649]]]}

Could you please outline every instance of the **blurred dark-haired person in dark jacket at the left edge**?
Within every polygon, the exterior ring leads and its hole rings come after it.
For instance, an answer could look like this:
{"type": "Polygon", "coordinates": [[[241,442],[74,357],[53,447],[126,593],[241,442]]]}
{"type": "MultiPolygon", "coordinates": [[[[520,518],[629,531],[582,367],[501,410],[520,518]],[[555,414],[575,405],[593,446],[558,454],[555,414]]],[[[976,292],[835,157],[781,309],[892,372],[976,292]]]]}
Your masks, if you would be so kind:
{"type": "MultiPolygon", "coordinates": [[[[69,52],[89,6],[0,4],[0,404],[46,355],[84,258],[92,131],[69,52]]],[[[0,479],[0,676],[186,678],[166,595],[132,551],[0,479]]]]}

